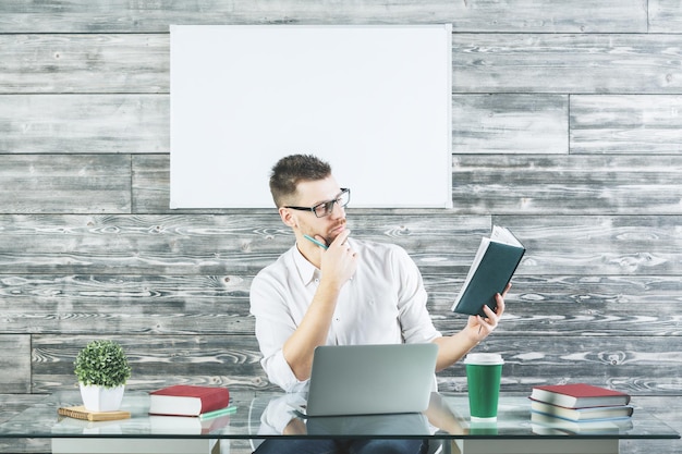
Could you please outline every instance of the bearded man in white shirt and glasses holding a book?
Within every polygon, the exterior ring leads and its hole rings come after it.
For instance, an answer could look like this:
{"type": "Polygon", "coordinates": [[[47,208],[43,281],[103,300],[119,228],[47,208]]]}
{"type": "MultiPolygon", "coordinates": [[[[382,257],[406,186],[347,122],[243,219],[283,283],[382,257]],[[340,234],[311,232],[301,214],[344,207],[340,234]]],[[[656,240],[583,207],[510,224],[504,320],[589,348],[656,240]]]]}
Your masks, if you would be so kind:
{"type": "MultiPolygon", "coordinates": [[[[261,365],[268,379],[284,391],[307,389],[318,345],[434,342],[439,346],[437,370],[441,370],[497,327],[504,311],[503,295],[499,294],[496,311],[486,306],[486,317],[472,316],[462,331],[442,336],[426,309],[422,275],[406,251],[350,237],[345,207],[351,193],[339,186],[327,162],[308,155],[282,158],[272,169],[270,192],[296,244],[254,279],[251,311],[264,356],[261,365]]],[[[288,442],[268,440],[257,452],[290,452],[288,442]]],[[[421,450],[419,440],[365,440],[355,446],[308,442],[329,446],[303,451],[297,445],[291,452],[350,449],[354,453],[413,454],[421,450]],[[373,443],[391,444],[391,451],[380,451],[385,446],[373,443]]]]}

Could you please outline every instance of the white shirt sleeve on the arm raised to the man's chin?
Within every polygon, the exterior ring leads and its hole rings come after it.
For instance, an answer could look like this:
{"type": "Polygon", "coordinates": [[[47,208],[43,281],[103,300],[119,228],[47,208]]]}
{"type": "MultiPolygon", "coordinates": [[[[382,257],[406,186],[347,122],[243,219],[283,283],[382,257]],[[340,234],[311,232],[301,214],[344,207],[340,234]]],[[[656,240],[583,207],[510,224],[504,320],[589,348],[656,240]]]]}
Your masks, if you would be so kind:
{"type": "Polygon", "coordinates": [[[263,354],[260,364],[268,380],[287,392],[305,391],[307,380],[300,381],[284,359],[282,346],[296,327],[283,285],[267,268],[256,275],[251,286],[251,312],[256,320],[256,339],[263,354]]]}

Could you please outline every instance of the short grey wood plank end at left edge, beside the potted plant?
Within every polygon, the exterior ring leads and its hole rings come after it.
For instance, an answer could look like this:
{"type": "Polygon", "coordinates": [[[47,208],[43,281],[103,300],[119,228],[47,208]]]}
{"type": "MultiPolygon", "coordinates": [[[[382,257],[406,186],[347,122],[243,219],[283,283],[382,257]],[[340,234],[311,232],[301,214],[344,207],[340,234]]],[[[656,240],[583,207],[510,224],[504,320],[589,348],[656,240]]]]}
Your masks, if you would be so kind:
{"type": "MultiPolygon", "coordinates": [[[[4,331],[4,330],[3,330],[4,331]]],[[[28,393],[31,389],[31,335],[0,334],[0,389],[28,393]]]]}

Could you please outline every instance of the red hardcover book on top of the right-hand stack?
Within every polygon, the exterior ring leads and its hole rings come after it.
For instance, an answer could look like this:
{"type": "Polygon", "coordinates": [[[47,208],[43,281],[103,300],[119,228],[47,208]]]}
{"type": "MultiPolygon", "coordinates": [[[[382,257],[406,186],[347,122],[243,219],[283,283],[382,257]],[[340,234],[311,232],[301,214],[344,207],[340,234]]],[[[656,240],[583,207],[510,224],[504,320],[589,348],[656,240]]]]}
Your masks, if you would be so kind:
{"type": "Polygon", "coordinates": [[[630,403],[629,394],[586,383],[534,386],[531,398],[567,408],[628,405],[630,403]]]}

